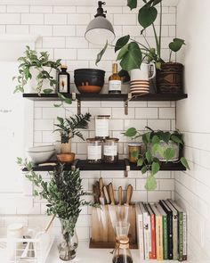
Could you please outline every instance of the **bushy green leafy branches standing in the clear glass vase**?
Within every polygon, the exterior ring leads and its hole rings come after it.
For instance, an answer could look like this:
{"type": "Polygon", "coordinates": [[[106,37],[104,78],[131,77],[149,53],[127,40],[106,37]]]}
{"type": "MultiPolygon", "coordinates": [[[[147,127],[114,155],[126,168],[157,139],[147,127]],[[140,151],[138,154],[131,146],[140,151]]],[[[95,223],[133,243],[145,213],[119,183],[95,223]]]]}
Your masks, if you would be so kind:
{"type": "Polygon", "coordinates": [[[33,170],[33,163],[21,158],[18,158],[17,163],[20,168],[28,169],[25,177],[36,185],[34,195],[47,201],[47,214],[69,221],[69,233],[73,235],[81,207],[94,206],[93,201],[85,201],[85,196],[91,193],[84,191],[79,170],[64,170],[63,165],[58,164],[53,172],[50,172],[50,180],[44,181],[43,177],[33,170]]]}

